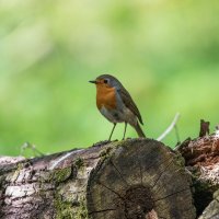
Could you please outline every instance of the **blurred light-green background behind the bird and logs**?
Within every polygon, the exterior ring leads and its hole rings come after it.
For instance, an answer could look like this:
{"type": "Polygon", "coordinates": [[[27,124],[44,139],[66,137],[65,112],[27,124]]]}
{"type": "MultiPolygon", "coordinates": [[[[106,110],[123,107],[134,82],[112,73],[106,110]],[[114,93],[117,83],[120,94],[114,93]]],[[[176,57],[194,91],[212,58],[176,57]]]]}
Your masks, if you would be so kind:
{"type": "MultiPolygon", "coordinates": [[[[0,154],[25,141],[51,153],[107,139],[112,124],[88,83],[101,73],[129,90],[148,137],[176,112],[181,140],[198,135],[200,118],[214,129],[218,0],[0,0],[0,154]]],[[[175,146],[174,131],[164,142],[175,146]]]]}

